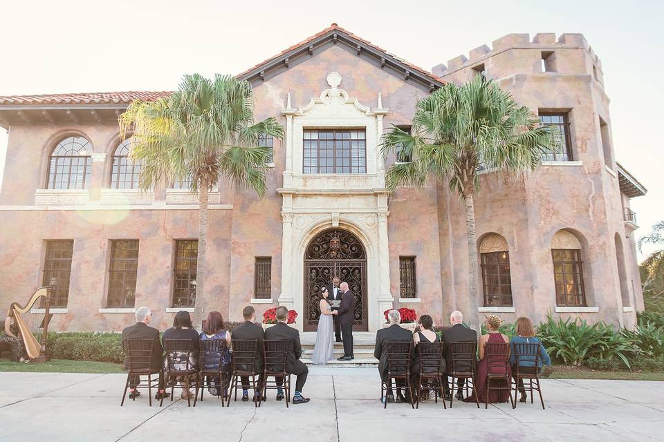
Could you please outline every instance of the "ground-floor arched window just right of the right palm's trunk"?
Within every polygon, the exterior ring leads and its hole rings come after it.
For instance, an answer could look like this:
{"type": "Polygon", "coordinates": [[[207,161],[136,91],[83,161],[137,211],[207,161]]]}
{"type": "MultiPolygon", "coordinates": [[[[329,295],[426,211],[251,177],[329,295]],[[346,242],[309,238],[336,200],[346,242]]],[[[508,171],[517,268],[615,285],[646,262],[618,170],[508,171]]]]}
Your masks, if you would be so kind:
{"type": "Polygon", "coordinates": [[[507,241],[497,233],[479,244],[484,307],[512,307],[512,278],[507,241]]]}

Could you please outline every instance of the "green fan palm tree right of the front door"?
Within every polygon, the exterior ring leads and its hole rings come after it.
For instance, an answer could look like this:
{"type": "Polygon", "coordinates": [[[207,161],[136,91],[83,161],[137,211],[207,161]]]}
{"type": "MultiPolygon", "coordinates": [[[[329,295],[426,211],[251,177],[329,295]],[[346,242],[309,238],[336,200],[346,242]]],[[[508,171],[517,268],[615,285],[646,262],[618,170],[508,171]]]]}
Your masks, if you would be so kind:
{"type": "MultiPolygon", "coordinates": [[[[418,102],[411,134],[395,126],[383,135],[382,155],[396,153],[398,158],[385,175],[389,191],[399,184],[447,182],[463,198],[471,305],[472,300],[481,305],[473,207],[479,190],[477,172],[489,169],[518,175],[534,170],[544,152],[560,146],[559,137],[510,93],[481,75],[461,86],[445,84],[418,102]]],[[[470,316],[477,327],[477,309],[470,316]]]]}

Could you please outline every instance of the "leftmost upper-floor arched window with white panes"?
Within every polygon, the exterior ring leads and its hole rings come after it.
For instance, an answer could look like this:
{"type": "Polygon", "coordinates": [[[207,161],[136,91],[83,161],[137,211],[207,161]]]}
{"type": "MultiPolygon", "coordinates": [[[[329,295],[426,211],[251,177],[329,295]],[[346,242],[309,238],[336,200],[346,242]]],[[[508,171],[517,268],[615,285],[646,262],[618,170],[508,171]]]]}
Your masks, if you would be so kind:
{"type": "Polygon", "coordinates": [[[48,189],[86,189],[90,183],[92,157],[84,137],[68,137],[48,157],[48,189]]]}

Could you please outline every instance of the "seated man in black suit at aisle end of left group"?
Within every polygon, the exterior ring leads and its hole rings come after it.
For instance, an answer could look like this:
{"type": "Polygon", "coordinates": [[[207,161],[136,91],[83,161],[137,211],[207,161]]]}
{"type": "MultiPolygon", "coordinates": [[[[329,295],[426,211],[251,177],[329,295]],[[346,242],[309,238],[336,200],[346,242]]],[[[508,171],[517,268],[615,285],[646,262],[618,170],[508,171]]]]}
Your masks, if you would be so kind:
{"type": "MultiPolygon", "coordinates": [[[[288,309],[283,305],[277,308],[277,325],[268,328],[265,331],[265,340],[288,340],[288,356],[286,358],[286,373],[295,374],[295,394],[293,403],[307,403],[309,400],[302,396],[302,388],[306,382],[306,376],[309,369],[299,358],[302,357],[302,345],[299,342],[299,332],[293,327],[288,327],[288,309]]],[[[282,391],[283,378],[276,378],[277,381],[277,401],[284,398],[282,391]]]]}

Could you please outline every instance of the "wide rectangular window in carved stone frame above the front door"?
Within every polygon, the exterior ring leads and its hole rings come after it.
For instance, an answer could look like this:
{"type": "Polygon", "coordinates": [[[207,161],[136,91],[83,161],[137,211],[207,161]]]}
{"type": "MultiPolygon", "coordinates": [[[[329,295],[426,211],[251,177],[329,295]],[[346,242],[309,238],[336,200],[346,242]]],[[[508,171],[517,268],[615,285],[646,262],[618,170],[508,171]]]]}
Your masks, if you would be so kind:
{"type": "Polygon", "coordinates": [[[367,173],[364,129],[306,129],[303,146],[303,173],[367,173]]]}

